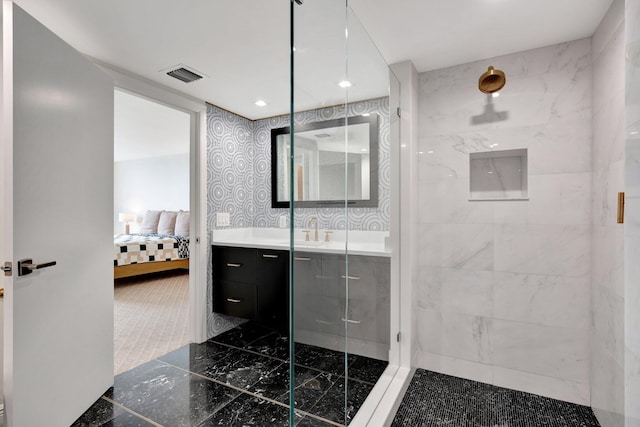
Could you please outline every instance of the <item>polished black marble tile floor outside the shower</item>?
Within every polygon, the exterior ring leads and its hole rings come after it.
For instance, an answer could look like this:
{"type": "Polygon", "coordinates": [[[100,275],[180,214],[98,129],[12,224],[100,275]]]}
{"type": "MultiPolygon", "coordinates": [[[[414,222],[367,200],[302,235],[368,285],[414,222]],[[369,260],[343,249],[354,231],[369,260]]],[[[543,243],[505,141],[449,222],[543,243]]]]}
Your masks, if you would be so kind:
{"type": "MultiPolygon", "coordinates": [[[[387,362],[296,343],[296,426],[345,425],[387,362]]],[[[248,322],[115,377],[73,426],[288,426],[289,340],[248,322]]]]}

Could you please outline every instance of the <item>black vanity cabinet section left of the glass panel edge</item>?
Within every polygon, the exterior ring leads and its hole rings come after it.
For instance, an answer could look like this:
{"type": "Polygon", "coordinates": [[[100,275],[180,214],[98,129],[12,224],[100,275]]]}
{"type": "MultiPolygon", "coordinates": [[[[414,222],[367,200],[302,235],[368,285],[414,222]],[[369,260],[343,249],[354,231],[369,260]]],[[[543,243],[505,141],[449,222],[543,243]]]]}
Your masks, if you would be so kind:
{"type": "Polygon", "coordinates": [[[289,253],[212,246],[213,311],[285,330],[289,253]]]}

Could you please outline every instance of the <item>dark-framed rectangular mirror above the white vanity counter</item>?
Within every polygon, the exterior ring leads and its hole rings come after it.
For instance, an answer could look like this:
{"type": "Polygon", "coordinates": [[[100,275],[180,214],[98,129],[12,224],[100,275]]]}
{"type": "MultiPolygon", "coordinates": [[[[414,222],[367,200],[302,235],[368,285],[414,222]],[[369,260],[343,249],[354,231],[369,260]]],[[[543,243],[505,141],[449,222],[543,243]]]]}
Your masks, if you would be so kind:
{"type": "Polygon", "coordinates": [[[378,115],[295,126],[293,183],[291,128],[271,130],[271,207],[378,206],[378,115]],[[347,154],[345,154],[345,152],[347,154]],[[346,166],[345,166],[346,164],[346,166]]]}

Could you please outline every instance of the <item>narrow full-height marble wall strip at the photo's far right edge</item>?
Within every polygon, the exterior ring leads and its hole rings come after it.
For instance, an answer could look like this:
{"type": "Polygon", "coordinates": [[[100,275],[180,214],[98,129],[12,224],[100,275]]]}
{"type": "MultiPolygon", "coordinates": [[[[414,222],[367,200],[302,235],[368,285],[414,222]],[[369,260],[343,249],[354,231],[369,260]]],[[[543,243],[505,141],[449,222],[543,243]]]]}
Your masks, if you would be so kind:
{"type": "Polygon", "coordinates": [[[627,0],[625,97],[625,416],[640,426],[640,1],[627,0]]]}

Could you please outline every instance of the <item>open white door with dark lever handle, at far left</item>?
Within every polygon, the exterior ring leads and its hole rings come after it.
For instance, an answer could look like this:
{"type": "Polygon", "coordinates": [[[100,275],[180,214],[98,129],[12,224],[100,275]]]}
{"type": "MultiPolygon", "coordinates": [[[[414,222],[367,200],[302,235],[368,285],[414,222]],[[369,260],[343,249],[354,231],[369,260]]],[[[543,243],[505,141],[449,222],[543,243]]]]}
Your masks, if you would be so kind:
{"type": "Polygon", "coordinates": [[[2,9],[9,426],[68,426],[113,384],[113,83],[2,9]],[[56,265],[20,276],[17,262],[56,265]]]}

